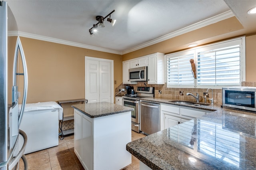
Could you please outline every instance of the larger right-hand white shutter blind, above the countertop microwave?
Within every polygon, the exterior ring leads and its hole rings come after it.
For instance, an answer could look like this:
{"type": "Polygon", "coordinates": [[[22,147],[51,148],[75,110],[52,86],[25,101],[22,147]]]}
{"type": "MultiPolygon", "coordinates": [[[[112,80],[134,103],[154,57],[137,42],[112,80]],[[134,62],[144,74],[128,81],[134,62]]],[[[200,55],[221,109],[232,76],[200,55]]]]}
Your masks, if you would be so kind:
{"type": "Polygon", "coordinates": [[[196,50],[197,85],[239,85],[242,40],[196,50]]]}

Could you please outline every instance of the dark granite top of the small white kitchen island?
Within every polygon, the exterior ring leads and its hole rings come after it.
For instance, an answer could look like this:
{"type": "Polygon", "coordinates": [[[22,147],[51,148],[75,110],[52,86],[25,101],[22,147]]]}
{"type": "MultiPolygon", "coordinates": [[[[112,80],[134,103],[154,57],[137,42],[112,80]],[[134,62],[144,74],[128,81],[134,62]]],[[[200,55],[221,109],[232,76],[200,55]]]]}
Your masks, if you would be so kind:
{"type": "Polygon", "coordinates": [[[108,102],[78,104],[72,105],[72,107],[90,118],[114,115],[134,110],[131,107],[120,106],[108,102]]]}

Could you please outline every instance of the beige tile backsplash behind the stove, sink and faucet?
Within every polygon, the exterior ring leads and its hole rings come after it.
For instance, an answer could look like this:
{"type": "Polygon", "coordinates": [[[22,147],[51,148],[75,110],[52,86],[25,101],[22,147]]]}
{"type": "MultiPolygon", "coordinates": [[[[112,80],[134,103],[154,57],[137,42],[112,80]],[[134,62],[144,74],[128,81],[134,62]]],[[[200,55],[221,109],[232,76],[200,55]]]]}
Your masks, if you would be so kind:
{"type": "MultiPolygon", "coordinates": [[[[119,89],[125,89],[126,84],[119,85],[116,90],[115,94],[119,92],[119,89]]],[[[209,97],[212,98],[212,91],[209,90],[208,94],[206,94],[207,89],[198,89],[198,88],[167,88],[166,83],[164,85],[152,85],[145,83],[144,81],[139,81],[136,85],[130,85],[136,89],[136,87],[154,87],[154,95],[155,97],[170,99],[170,100],[185,100],[185,101],[196,101],[194,97],[192,96],[186,96],[186,93],[192,93],[195,95],[195,93],[199,93],[200,95],[200,102],[204,102],[203,96],[206,96],[206,103],[211,103],[209,100],[209,97]]],[[[243,81],[242,86],[248,86],[248,87],[256,87],[256,82],[247,82],[243,81]]],[[[124,95],[127,92],[120,92],[119,95],[124,95]]],[[[221,105],[222,104],[222,89],[213,89],[213,99],[214,104],[221,105]]]]}

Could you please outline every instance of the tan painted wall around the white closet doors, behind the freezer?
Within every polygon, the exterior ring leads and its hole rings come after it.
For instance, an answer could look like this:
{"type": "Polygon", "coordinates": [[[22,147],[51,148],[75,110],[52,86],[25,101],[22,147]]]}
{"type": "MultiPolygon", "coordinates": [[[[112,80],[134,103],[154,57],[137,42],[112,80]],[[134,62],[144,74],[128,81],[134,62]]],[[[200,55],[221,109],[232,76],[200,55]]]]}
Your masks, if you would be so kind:
{"type": "MultiPolygon", "coordinates": [[[[27,103],[84,98],[85,56],[113,59],[114,80],[117,82],[114,89],[122,83],[122,55],[30,38],[20,39],[28,67],[27,103]]],[[[11,56],[9,72],[13,67],[11,56]]],[[[12,75],[8,79],[11,84],[12,75]]]]}

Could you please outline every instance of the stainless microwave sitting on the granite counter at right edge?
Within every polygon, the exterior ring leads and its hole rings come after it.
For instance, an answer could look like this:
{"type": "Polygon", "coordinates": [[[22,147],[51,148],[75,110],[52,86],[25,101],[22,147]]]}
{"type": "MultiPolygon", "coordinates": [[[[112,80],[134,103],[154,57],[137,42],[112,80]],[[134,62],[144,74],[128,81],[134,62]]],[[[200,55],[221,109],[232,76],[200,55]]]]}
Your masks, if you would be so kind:
{"type": "Polygon", "coordinates": [[[222,106],[256,111],[256,87],[223,87],[222,106]]]}

